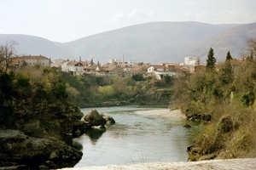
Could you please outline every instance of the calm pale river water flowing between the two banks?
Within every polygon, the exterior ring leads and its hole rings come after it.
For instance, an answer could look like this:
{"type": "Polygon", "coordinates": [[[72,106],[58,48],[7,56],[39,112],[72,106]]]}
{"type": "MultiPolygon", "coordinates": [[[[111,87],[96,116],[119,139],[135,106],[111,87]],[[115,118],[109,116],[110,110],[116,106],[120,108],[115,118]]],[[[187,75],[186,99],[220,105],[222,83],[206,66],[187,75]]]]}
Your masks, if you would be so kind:
{"type": "Polygon", "coordinates": [[[86,115],[92,109],[113,116],[116,123],[106,126],[106,131],[90,130],[73,139],[73,144],[80,145],[84,153],[74,167],[187,161],[186,149],[193,144],[191,139],[197,127],[183,127],[185,119],[134,114],[134,111],[159,109],[139,106],[84,108],[81,111],[86,115]]]}

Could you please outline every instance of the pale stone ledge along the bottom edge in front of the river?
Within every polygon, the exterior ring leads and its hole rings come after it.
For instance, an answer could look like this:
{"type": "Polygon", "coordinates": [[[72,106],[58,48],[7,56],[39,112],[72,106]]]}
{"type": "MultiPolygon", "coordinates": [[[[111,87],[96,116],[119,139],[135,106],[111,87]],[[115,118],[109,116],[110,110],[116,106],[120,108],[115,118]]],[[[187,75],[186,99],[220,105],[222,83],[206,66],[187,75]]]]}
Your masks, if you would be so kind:
{"type": "Polygon", "coordinates": [[[211,161],[179,161],[179,162],[154,162],[154,163],[139,163],[133,165],[109,165],[105,167],[73,167],[64,168],[62,170],[166,170],[166,169],[190,169],[190,170],[206,170],[206,169],[236,169],[236,170],[250,170],[256,169],[256,158],[246,159],[230,159],[230,160],[211,160],[211,161]]]}

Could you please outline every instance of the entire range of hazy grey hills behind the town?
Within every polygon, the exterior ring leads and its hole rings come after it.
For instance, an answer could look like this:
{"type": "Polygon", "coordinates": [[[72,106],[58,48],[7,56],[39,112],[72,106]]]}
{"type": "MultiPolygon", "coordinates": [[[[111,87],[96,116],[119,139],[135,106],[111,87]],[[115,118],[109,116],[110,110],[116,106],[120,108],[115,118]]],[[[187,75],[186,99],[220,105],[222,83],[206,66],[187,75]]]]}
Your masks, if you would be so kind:
{"type": "Polygon", "coordinates": [[[51,59],[134,59],[138,62],[183,62],[183,57],[207,57],[210,47],[218,60],[228,50],[239,58],[248,37],[255,36],[255,23],[247,25],[210,25],[199,22],[154,22],[83,37],[73,42],[51,42],[42,37],[0,34],[0,44],[18,43],[17,54],[43,54],[51,59]],[[221,49],[221,50],[219,50],[221,49]]]}

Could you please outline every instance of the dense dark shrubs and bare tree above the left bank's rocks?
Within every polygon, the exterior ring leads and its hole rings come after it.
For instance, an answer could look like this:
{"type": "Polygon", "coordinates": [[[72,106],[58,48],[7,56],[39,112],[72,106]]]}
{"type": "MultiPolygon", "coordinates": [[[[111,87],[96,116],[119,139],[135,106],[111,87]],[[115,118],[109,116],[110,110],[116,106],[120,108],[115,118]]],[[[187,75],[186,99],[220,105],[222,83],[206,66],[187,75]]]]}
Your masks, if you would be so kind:
{"type": "Polygon", "coordinates": [[[0,123],[11,128],[32,120],[48,123],[47,117],[52,121],[50,117],[55,116],[49,105],[67,104],[66,84],[54,69],[38,65],[16,68],[11,62],[13,45],[0,48],[0,123]]]}

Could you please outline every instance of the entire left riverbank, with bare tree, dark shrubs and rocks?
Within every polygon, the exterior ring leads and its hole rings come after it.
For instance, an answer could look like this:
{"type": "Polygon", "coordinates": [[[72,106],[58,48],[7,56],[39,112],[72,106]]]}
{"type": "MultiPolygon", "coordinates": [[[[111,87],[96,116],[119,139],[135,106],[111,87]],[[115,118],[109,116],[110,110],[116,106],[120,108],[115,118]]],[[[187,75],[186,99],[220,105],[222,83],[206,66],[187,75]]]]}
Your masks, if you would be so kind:
{"type": "Polygon", "coordinates": [[[59,73],[39,65],[17,69],[14,57],[13,42],[0,46],[0,167],[79,161],[83,153],[63,141],[84,114],[67,101],[59,73]]]}

